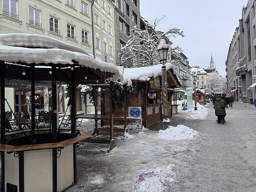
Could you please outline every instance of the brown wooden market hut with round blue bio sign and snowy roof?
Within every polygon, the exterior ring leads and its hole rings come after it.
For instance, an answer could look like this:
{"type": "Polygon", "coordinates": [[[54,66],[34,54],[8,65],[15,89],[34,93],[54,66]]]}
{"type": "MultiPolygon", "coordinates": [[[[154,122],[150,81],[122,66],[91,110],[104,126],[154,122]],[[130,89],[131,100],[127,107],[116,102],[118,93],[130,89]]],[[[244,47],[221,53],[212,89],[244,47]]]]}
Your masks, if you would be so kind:
{"type": "MultiPolygon", "coordinates": [[[[181,81],[176,75],[176,70],[171,63],[166,64],[168,88],[179,88],[181,81]]],[[[124,68],[124,81],[128,78],[132,81],[123,83],[123,93],[120,92],[120,102],[117,103],[114,115],[114,125],[126,127],[127,123],[142,121],[144,127],[154,125],[163,120],[162,102],[162,64],[139,67],[124,68]],[[123,102],[122,102],[123,101],[123,102]]],[[[105,96],[108,93],[105,93],[105,96]]],[[[171,95],[168,92],[169,117],[171,117],[171,95]]],[[[105,113],[108,105],[104,104],[105,113]]],[[[107,123],[107,122],[106,122],[107,123]]]]}

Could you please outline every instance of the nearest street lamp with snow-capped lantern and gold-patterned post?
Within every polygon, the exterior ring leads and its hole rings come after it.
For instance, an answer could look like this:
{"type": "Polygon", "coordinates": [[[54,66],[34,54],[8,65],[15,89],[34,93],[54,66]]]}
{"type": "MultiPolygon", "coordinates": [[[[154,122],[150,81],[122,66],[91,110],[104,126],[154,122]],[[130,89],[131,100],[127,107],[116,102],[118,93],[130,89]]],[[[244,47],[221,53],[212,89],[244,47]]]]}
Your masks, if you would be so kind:
{"type": "Polygon", "coordinates": [[[162,39],[157,46],[157,50],[160,56],[160,62],[163,64],[162,66],[162,95],[163,95],[163,129],[167,129],[169,127],[170,119],[168,118],[168,94],[167,94],[167,75],[166,75],[166,61],[167,61],[167,53],[169,50],[169,46],[166,44],[166,41],[162,39]]]}

